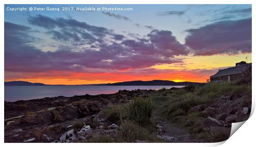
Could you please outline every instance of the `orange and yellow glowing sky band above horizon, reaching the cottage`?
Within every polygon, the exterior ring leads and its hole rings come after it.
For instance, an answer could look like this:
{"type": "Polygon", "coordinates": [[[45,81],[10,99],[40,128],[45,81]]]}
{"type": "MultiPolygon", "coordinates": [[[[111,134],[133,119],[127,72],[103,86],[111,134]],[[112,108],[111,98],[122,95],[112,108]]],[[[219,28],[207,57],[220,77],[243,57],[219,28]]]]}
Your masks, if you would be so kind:
{"type": "MultiPolygon", "coordinates": [[[[133,73],[133,69],[125,69],[118,72],[113,71],[108,73],[52,71],[50,74],[43,72],[22,74],[5,71],[5,81],[21,80],[31,83],[44,83],[50,85],[102,84],[133,80],[172,80],[175,82],[188,81],[205,83],[206,79],[209,79],[209,77],[215,74],[218,69],[235,66],[236,62],[243,61],[246,56],[248,57],[248,62],[251,62],[251,53],[232,56],[187,56],[183,60],[183,63],[155,65],[152,66],[151,69],[155,69],[156,71],[146,70],[144,72],[140,72],[140,69],[137,69],[135,73],[133,73]],[[13,78],[15,76],[17,78],[13,78]]],[[[143,71],[143,69],[141,69],[141,71],[143,71]]]]}

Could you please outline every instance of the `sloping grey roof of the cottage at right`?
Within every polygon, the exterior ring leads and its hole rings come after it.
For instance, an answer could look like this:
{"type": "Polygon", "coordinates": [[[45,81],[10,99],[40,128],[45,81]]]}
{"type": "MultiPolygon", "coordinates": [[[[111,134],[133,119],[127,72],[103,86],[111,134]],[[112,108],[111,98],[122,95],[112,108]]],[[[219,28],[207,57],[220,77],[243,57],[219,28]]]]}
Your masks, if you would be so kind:
{"type": "Polygon", "coordinates": [[[216,78],[219,76],[228,76],[232,74],[241,74],[242,71],[245,71],[250,66],[251,66],[251,63],[248,63],[248,64],[237,65],[235,67],[229,67],[226,69],[220,69],[216,74],[214,74],[213,76],[210,76],[210,78],[216,78]]]}

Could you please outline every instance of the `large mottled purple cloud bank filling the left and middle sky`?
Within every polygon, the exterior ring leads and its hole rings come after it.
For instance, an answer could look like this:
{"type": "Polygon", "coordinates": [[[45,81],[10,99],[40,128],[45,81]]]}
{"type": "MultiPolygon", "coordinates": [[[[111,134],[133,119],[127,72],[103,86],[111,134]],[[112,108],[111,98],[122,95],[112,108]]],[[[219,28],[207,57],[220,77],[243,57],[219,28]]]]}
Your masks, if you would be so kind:
{"type": "Polygon", "coordinates": [[[5,71],[38,73],[140,69],[182,62],[174,56],[187,54],[187,48],[177,41],[171,31],[153,30],[144,38],[137,36],[131,40],[115,34],[114,30],[74,19],[37,15],[29,17],[29,21],[45,28],[46,35],[58,43],[50,42],[50,46],[57,48],[55,51],[43,51],[36,43],[38,38],[32,36],[31,28],[5,22],[5,71]],[[38,19],[51,24],[37,23],[38,19]]]}

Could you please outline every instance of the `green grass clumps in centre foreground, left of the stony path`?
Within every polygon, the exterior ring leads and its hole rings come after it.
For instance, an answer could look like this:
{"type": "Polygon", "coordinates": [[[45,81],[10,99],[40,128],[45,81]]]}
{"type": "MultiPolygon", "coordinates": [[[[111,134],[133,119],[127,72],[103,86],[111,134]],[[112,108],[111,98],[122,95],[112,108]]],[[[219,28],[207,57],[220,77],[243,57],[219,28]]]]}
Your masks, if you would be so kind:
{"type": "Polygon", "coordinates": [[[152,101],[149,99],[134,98],[127,104],[107,106],[103,113],[111,122],[119,124],[117,133],[122,142],[156,140],[150,132],[150,127],[155,125],[149,121],[152,115],[152,101]],[[145,124],[149,124],[147,128],[145,124]]]}

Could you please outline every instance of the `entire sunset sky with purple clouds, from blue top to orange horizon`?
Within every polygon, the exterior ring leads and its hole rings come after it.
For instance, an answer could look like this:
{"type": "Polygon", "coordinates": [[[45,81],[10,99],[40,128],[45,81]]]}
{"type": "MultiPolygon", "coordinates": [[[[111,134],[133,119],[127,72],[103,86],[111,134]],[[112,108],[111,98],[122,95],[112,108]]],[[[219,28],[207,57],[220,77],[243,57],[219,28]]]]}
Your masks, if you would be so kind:
{"type": "Polygon", "coordinates": [[[251,62],[251,33],[251,5],[5,5],[5,81],[206,82],[251,62]]]}

